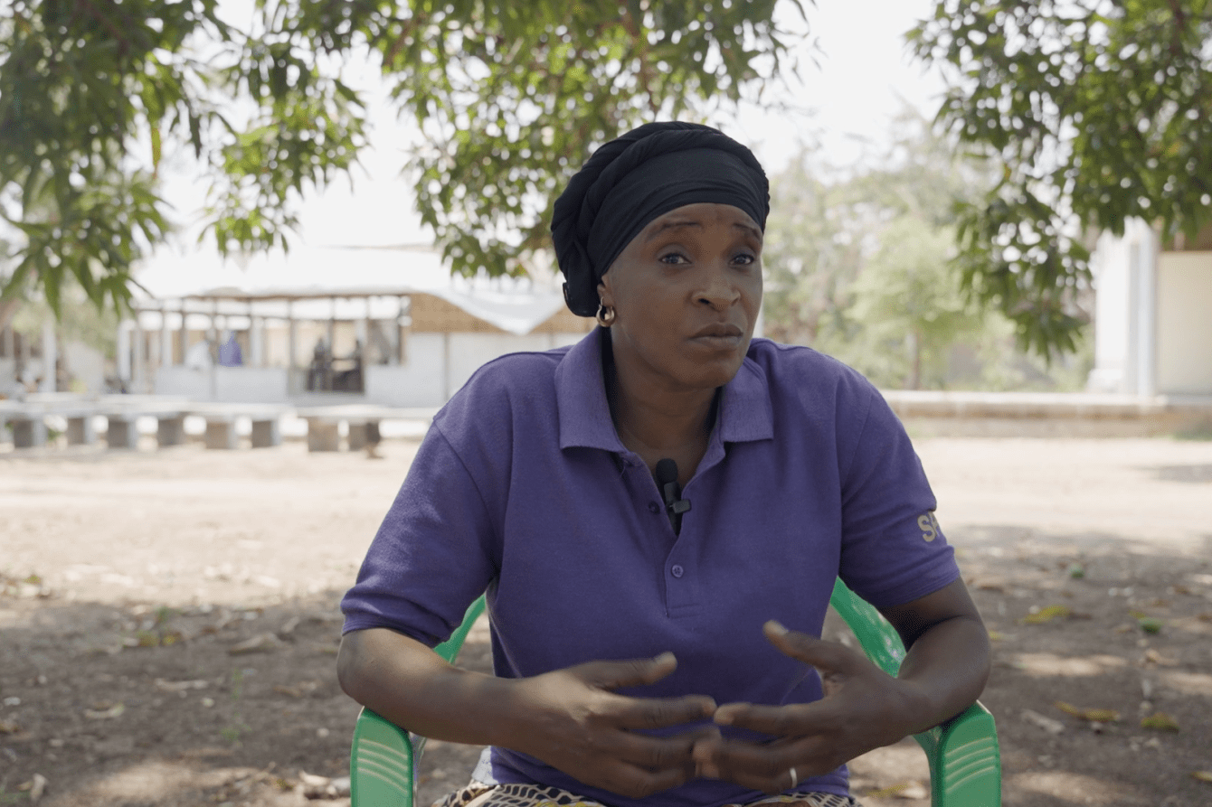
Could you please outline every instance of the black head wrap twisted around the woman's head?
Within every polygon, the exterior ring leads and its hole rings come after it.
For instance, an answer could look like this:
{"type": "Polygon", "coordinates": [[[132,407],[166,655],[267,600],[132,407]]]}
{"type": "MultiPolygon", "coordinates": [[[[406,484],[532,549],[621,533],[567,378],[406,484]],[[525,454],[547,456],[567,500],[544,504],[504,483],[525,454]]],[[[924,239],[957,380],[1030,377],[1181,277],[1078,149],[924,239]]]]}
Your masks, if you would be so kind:
{"type": "Polygon", "coordinates": [[[646,124],[594,151],[555,200],[551,240],[573,314],[598,311],[598,284],[654,218],[684,205],[732,205],[766,229],[770,183],[753,151],[698,124],[646,124]]]}

